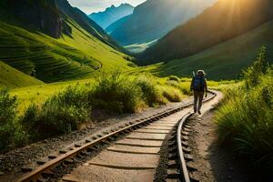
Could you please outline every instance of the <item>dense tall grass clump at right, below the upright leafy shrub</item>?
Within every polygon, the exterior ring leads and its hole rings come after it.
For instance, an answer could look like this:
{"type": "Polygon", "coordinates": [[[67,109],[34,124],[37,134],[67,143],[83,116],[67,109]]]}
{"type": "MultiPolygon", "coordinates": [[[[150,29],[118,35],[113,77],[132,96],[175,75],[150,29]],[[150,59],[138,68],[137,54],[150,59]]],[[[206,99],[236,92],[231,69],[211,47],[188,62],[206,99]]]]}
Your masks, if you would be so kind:
{"type": "Polygon", "coordinates": [[[238,93],[217,111],[222,140],[231,139],[239,154],[255,162],[273,162],[273,86],[269,83],[238,93]]]}

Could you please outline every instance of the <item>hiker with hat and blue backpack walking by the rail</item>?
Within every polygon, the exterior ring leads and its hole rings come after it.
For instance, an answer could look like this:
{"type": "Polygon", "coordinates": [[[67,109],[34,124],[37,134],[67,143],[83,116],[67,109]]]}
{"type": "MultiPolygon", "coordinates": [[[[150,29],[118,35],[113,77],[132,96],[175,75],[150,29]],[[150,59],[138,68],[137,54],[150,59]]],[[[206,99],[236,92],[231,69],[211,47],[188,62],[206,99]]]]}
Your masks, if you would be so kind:
{"type": "Polygon", "coordinates": [[[206,92],[207,97],[207,81],[205,78],[206,73],[203,70],[198,70],[197,75],[192,78],[190,90],[194,94],[194,111],[201,115],[201,106],[206,92]]]}

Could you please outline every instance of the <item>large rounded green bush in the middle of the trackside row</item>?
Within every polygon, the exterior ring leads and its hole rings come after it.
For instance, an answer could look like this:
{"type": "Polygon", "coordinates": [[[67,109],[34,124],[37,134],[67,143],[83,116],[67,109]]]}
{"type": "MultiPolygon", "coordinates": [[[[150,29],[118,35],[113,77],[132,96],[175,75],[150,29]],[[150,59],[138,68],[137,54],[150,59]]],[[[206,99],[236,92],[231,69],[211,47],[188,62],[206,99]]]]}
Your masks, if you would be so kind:
{"type": "Polygon", "coordinates": [[[100,76],[93,92],[94,105],[109,111],[136,112],[143,93],[136,83],[120,72],[100,76]]]}

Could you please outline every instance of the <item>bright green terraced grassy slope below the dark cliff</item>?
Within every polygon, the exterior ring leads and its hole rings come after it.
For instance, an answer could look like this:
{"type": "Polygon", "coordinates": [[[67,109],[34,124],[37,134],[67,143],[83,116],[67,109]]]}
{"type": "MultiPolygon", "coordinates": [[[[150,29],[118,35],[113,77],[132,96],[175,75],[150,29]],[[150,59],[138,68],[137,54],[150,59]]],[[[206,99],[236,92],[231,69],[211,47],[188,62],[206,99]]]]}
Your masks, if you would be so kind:
{"type": "Polygon", "coordinates": [[[0,21],[0,60],[45,83],[82,79],[119,67],[131,69],[126,55],[88,34],[71,19],[72,35],[59,39],[0,21]]]}

